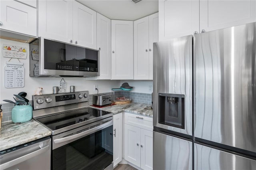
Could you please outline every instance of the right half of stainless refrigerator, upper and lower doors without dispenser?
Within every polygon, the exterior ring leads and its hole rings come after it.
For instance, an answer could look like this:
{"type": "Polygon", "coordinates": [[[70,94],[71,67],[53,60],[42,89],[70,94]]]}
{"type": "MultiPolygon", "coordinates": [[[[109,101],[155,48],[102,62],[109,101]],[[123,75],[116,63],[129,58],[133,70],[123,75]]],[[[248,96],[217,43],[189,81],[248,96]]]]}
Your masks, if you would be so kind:
{"type": "Polygon", "coordinates": [[[256,23],[194,35],[194,169],[256,169],[256,23]]]}

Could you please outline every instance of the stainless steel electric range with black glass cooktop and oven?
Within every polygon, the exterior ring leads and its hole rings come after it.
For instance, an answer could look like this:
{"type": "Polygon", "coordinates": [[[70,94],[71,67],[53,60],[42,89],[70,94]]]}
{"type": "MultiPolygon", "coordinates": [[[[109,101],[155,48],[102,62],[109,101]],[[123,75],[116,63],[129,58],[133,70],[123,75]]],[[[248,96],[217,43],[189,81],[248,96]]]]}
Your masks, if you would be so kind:
{"type": "Polygon", "coordinates": [[[113,113],[90,108],[88,91],[33,96],[32,105],[52,132],[52,170],[113,169],[113,113]]]}

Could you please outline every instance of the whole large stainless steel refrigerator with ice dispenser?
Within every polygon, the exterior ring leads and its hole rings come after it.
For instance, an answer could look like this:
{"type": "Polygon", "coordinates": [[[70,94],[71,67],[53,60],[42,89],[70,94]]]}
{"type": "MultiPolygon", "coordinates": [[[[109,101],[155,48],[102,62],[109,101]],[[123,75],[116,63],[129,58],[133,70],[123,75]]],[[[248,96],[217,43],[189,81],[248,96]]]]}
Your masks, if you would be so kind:
{"type": "Polygon", "coordinates": [[[256,168],[256,23],[154,43],[153,169],[256,168]]]}

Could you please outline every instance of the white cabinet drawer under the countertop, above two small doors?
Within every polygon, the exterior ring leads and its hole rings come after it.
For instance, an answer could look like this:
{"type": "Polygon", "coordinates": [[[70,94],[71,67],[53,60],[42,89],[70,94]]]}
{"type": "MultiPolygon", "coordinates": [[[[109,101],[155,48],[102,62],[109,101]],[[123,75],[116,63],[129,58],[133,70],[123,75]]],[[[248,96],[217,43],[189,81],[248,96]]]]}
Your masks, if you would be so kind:
{"type": "Polygon", "coordinates": [[[124,123],[146,130],[153,130],[153,119],[143,115],[124,113],[124,123]]]}

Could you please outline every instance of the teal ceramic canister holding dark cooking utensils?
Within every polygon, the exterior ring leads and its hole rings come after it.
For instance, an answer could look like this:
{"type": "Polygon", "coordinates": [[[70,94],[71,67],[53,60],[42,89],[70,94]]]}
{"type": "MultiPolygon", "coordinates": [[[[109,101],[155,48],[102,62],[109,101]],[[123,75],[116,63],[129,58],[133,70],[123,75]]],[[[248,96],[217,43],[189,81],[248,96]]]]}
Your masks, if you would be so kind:
{"type": "Polygon", "coordinates": [[[29,105],[16,105],[12,108],[12,122],[24,123],[32,119],[33,109],[29,105]]]}

